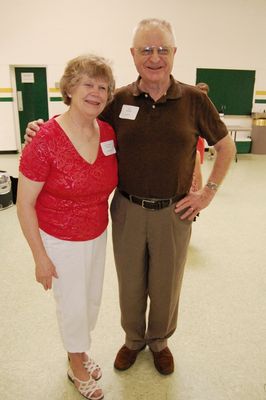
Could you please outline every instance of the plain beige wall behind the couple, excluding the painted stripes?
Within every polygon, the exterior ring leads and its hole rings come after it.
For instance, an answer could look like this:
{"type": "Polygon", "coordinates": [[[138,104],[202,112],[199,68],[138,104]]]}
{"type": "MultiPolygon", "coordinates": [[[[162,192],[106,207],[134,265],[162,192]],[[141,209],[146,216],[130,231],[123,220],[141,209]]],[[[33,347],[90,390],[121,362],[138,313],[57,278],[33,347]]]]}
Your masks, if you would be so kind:
{"type": "MultiPolygon", "coordinates": [[[[132,29],[159,17],[176,32],[178,80],[194,84],[198,67],[255,69],[255,89],[266,90],[265,0],[0,0],[0,15],[0,88],[11,87],[10,65],[24,64],[47,65],[53,87],[66,61],[84,52],[111,59],[117,85],[126,84],[136,77],[132,29]]],[[[0,102],[0,151],[17,148],[13,107],[0,102]]]]}

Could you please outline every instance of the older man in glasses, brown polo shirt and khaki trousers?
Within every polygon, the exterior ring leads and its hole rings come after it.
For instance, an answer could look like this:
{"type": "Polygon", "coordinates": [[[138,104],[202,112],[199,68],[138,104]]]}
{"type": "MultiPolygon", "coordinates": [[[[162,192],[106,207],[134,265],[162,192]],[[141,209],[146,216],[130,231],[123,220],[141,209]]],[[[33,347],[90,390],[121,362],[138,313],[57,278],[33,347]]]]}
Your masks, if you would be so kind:
{"type": "Polygon", "coordinates": [[[235,152],[208,97],[171,75],[175,53],[168,22],[141,21],[131,48],[138,79],[118,89],[102,114],[118,140],[111,215],[126,336],[114,366],[128,369],[148,345],[164,375],[174,371],[167,339],[176,329],[191,224],[215,196],[235,152]],[[206,185],[192,193],[198,135],[217,157],[206,185]]]}

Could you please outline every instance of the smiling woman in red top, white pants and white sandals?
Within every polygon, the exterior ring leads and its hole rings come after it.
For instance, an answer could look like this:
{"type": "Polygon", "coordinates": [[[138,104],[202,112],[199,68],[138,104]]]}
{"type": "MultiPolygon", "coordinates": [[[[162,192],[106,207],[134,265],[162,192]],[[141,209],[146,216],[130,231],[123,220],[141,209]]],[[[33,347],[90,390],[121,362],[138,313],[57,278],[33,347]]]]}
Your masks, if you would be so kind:
{"type": "Polygon", "coordinates": [[[101,302],[108,197],[117,185],[115,133],[97,119],[114,91],[105,59],[80,56],[60,89],[69,109],[42,125],[22,153],[18,217],[36,280],[53,287],[69,379],[87,399],[103,398],[100,367],[89,357],[101,302]]]}

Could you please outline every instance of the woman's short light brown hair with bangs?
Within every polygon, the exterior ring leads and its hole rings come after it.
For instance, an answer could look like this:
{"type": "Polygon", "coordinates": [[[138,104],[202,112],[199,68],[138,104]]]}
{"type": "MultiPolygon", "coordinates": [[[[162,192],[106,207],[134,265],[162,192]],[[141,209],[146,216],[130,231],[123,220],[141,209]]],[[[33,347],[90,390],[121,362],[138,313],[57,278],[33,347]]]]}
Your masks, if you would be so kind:
{"type": "Polygon", "coordinates": [[[65,104],[70,105],[69,92],[80,82],[82,75],[105,80],[108,84],[107,101],[112,100],[115,80],[109,62],[103,57],[87,54],[73,58],[67,63],[64,75],[60,79],[60,91],[65,104]]]}

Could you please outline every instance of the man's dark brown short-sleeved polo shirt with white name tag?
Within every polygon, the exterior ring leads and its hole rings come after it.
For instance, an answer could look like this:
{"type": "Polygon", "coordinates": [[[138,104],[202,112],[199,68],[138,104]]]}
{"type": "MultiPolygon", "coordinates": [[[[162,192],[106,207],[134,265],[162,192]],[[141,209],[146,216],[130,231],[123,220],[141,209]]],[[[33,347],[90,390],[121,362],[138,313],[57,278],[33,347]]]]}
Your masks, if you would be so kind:
{"type": "Polygon", "coordinates": [[[117,135],[119,189],[146,198],[187,193],[198,136],[214,145],[228,134],[208,97],[172,76],[156,102],[138,81],[118,89],[102,118],[117,135]]]}

